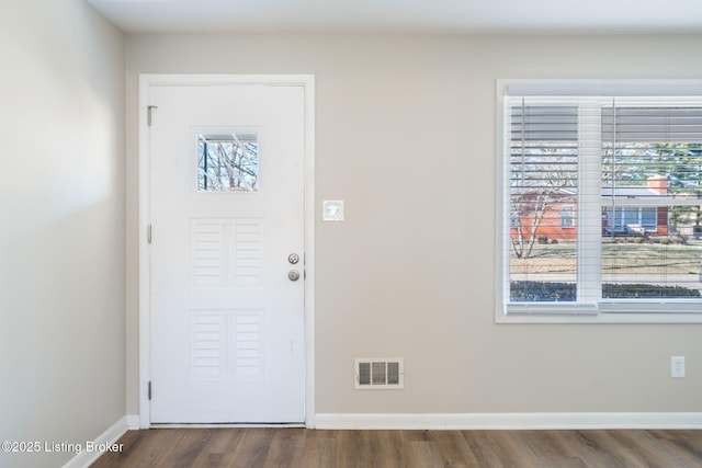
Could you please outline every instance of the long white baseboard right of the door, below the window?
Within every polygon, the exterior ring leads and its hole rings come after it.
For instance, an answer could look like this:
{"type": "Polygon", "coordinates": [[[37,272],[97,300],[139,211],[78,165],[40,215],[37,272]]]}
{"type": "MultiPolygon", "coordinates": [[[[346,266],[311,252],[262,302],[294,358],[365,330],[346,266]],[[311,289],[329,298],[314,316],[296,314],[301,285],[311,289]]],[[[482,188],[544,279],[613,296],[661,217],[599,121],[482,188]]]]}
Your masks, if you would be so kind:
{"type": "Polygon", "coordinates": [[[315,429],[587,430],[702,429],[702,413],[317,413],[315,429]]]}

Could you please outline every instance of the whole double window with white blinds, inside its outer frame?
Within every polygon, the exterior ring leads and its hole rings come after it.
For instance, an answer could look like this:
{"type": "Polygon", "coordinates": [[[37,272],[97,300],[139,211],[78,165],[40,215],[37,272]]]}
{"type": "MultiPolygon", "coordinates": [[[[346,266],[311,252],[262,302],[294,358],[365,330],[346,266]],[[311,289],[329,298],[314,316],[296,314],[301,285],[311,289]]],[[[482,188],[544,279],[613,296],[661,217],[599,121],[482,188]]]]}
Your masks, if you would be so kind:
{"type": "Polygon", "coordinates": [[[702,98],[500,102],[503,313],[702,312],[702,98]]]}

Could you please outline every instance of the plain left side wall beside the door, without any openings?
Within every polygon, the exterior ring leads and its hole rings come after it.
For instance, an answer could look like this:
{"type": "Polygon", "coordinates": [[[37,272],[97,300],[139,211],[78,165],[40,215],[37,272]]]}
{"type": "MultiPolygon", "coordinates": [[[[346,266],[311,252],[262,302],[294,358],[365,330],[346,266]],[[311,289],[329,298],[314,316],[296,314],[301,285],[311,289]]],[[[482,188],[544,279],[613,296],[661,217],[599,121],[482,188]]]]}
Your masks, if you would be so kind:
{"type": "Polygon", "coordinates": [[[84,444],[125,415],[124,35],[3,1],[0,59],[0,441],[84,444]]]}

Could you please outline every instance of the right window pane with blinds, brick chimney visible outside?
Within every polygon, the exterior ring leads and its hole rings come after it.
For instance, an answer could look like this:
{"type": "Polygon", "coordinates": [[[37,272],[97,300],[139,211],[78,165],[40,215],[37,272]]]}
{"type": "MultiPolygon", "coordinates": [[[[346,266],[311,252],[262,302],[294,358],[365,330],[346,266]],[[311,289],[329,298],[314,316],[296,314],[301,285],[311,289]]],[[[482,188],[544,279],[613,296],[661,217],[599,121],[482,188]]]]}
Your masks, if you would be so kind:
{"type": "Polygon", "coordinates": [[[602,297],[700,296],[702,106],[602,106],[602,297]]]}

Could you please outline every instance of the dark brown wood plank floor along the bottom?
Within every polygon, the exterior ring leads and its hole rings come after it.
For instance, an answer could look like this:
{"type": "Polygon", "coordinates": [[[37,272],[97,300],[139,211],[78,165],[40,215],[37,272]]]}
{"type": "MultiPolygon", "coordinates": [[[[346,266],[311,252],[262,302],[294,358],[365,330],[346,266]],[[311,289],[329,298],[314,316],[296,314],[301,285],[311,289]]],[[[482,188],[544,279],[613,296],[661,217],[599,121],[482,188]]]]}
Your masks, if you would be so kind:
{"type": "Polygon", "coordinates": [[[702,467],[702,431],[129,431],[92,468],[702,467]]]}

